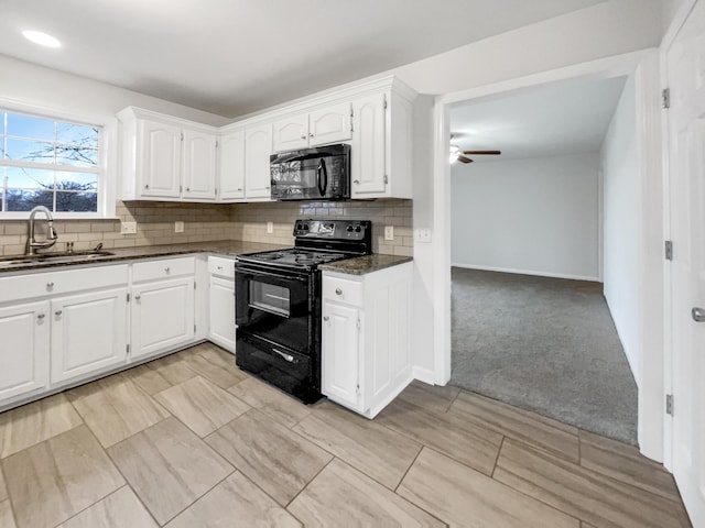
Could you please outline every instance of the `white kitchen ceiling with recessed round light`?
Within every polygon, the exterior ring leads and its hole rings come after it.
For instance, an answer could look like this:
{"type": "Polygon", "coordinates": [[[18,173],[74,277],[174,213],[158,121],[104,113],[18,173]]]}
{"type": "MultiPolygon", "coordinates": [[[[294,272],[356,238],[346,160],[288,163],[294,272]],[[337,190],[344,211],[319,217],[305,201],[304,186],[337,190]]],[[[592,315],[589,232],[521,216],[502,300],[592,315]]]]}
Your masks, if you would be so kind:
{"type": "Polygon", "coordinates": [[[232,118],[604,1],[0,0],[0,54],[232,118]]]}

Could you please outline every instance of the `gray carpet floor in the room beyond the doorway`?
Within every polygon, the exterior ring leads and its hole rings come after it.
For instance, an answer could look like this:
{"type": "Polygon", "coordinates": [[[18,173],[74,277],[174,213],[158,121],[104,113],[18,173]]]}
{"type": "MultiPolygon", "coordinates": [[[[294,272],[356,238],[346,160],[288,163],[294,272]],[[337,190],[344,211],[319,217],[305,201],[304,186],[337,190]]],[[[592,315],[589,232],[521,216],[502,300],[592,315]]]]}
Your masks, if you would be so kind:
{"type": "Polygon", "coordinates": [[[451,384],[637,443],[637,385],[599,283],[454,267],[451,384]]]}

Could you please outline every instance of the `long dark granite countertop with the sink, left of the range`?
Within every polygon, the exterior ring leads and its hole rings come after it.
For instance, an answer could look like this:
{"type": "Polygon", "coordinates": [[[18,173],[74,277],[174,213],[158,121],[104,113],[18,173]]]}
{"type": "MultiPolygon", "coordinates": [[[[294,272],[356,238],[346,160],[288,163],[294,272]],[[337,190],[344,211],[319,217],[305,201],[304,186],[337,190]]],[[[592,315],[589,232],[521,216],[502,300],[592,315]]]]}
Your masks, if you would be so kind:
{"type": "MultiPolygon", "coordinates": [[[[82,266],[86,264],[105,264],[120,261],[134,261],[139,258],[156,258],[160,256],[184,255],[192,253],[212,253],[224,256],[236,256],[242,253],[253,253],[258,251],[272,251],[289,248],[282,244],[264,244],[260,242],[220,241],[220,242],[196,242],[188,244],[169,245],[140,245],[135,248],[108,249],[111,255],[89,255],[85,258],[76,257],[72,261],[62,260],[30,260],[31,262],[20,262],[12,264],[0,263],[0,274],[10,272],[28,272],[34,270],[59,268],[65,266],[82,266]]],[[[46,253],[51,255],[51,252],[46,253]]],[[[23,261],[22,255],[18,255],[18,261],[23,261]]]]}

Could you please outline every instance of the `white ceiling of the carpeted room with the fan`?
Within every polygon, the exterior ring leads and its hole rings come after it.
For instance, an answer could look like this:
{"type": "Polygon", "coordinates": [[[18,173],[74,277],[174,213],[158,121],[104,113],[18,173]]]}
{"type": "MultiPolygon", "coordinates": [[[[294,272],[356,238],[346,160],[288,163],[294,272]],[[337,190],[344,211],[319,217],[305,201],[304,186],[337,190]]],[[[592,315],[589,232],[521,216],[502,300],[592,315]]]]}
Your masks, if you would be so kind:
{"type": "Polygon", "coordinates": [[[626,77],[573,79],[458,103],[451,110],[452,143],[463,151],[502,152],[468,156],[475,162],[597,151],[625,81],[626,77]]]}

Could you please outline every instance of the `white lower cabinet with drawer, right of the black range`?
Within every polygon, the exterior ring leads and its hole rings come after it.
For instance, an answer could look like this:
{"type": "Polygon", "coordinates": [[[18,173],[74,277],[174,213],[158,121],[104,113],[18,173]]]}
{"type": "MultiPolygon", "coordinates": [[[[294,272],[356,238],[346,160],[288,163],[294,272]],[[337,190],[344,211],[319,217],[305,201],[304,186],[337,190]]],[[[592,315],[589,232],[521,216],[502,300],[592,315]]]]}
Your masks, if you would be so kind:
{"type": "Polygon", "coordinates": [[[323,273],[321,392],[373,418],[412,380],[412,263],[323,273]]]}

